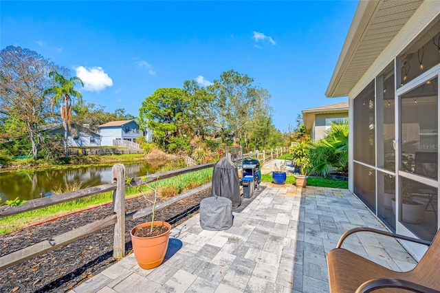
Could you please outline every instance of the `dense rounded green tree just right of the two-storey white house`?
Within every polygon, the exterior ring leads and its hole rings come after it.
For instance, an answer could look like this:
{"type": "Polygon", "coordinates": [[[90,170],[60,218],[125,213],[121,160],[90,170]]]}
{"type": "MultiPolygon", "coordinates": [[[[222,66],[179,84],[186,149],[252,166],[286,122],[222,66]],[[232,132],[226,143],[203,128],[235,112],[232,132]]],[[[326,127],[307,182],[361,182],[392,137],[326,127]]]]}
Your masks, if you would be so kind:
{"type": "Polygon", "coordinates": [[[142,102],[138,121],[140,127],[154,129],[154,140],[163,149],[173,141],[177,147],[180,147],[188,131],[182,116],[186,113],[189,104],[188,95],[182,89],[157,89],[142,102]]]}

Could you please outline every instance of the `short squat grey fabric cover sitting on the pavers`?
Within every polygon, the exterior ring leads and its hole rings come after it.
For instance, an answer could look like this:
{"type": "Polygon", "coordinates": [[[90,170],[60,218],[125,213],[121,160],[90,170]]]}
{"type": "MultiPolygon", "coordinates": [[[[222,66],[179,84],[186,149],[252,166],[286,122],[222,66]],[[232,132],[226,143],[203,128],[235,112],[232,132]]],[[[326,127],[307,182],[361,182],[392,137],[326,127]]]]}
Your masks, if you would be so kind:
{"type": "Polygon", "coordinates": [[[205,230],[225,230],[232,226],[232,202],[226,197],[207,197],[200,202],[200,226],[205,230]]]}

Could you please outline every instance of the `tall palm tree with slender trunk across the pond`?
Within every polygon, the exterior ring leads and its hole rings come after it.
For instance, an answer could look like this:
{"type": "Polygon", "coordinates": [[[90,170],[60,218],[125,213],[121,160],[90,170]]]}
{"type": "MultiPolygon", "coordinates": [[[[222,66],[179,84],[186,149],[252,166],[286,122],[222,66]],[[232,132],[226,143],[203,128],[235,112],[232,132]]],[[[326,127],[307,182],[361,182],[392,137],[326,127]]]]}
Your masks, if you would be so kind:
{"type": "Polygon", "coordinates": [[[61,118],[63,118],[64,127],[64,156],[67,158],[67,129],[70,129],[70,118],[72,117],[72,106],[75,99],[82,100],[83,95],[76,91],[76,85],[84,87],[83,80],[74,76],[65,78],[58,72],[50,72],[50,78],[54,80],[55,85],[45,91],[45,94],[52,95],[52,112],[54,105],[60,105],[61,118]]]}

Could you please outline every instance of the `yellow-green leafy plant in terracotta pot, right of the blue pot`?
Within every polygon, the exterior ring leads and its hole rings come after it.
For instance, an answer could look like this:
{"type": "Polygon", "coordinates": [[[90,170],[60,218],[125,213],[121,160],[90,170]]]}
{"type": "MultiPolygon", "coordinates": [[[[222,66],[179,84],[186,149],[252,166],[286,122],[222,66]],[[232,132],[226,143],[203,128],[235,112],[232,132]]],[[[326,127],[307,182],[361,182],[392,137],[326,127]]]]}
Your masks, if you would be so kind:
{"type": "Polygon", "coordinates": [[[300,169],[300,174],[294,174],[296,187],[303,188],[307,185],[307,178],[313,166],[310,162],[310,149],[307,140],[292,146],[294,164],[300,169]]]}

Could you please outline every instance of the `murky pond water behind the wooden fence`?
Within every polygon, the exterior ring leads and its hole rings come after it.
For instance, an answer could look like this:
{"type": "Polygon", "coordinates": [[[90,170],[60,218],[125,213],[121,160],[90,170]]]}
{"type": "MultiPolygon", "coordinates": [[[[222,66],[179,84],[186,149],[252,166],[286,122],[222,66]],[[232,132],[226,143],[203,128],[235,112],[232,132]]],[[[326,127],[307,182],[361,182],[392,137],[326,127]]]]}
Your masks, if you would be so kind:
{"type": "MultiPolygon", "coordinates": [[[[125,165],[126,177],[140,177],[155,173],[157,166],[148,162],[125,165]]],[[[43,170],[28,173],[0,173],[1,202],[8,199],[35,199],[52,195],[52,191],[81,184],[81,188],[111,183],[111,165],[81,167],[75,169],[43,170]]]]}

